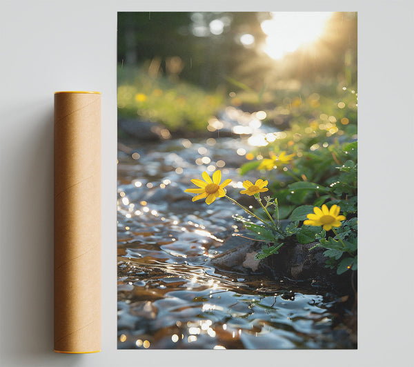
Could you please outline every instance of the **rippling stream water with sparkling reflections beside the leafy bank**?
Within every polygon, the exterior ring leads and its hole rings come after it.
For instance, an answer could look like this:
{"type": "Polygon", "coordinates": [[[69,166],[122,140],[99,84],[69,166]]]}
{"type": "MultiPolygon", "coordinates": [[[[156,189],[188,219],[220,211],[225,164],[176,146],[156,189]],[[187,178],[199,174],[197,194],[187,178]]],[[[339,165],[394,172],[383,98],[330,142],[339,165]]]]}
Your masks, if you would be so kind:
{"type": "Polygon", "coordinates": [[[247,139],[223,137],[119,150],[118,348],[355,348],[335,297],[212,264],[239,229],[232,215],[243,213],[225,198],[192,202],[184,190],[218,167],[237,198],[249,149],[247,139]]]}

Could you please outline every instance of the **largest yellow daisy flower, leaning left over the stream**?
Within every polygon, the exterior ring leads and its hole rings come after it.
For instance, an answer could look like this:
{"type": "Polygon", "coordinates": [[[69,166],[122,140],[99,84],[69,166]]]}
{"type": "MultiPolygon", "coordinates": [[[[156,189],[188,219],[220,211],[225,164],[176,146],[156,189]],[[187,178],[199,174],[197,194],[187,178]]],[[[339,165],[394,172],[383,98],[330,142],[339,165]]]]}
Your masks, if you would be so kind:
{"type": "Polygon", "coordinates": [[[224,187],[230,184],[231,180],[226,179],[220,184],[221,171],[217,170],[213,173],[213,180],[210,178],[207,172],[203,172],[202,177],[204,179],[192,179],[191,182],[199,188],[188,188],[185,192],[191,192],[192,194],[198,194],[193,197],[193,201],[206,198],[206,203],[210,205],[215,201],[216,197],[224,197],[226,191],[224,187]]]}

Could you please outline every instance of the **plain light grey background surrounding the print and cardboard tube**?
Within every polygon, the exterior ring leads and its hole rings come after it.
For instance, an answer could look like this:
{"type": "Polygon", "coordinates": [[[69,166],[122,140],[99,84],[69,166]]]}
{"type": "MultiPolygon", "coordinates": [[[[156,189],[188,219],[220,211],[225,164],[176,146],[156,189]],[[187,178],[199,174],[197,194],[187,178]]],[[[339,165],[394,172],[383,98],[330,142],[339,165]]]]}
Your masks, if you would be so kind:
{"type": "Polygon", "coordinates": [[[404,0],[2,0],[0,365],[411,365],[413,21],[404,0]],[[359,12],[358,350],[117,350],[117,11],[148,10],[359,12]],[[57,90],[102,92],[102,352],[91,355],[52,352],[57,90]]]}

